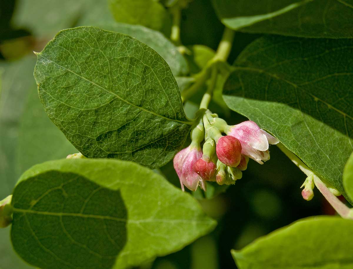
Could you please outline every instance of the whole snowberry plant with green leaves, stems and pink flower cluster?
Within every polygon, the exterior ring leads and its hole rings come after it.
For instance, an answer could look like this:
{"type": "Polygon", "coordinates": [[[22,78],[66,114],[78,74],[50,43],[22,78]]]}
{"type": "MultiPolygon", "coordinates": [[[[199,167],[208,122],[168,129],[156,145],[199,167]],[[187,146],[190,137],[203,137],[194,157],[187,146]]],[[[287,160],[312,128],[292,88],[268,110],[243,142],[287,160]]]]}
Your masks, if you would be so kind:
{"type": "MultiPolygon", "coordinates": [[[[12,18],[36,59],[1,63],[0,268],[187,268],[153,261],[231,234],[198,199],[221,212],[275,148],[335,216],[234,244],[232,266],[353,268],[352,0],[49,2],[12,18]]],[[[219,268],[208,251],[192,268],[219,268]]]]}

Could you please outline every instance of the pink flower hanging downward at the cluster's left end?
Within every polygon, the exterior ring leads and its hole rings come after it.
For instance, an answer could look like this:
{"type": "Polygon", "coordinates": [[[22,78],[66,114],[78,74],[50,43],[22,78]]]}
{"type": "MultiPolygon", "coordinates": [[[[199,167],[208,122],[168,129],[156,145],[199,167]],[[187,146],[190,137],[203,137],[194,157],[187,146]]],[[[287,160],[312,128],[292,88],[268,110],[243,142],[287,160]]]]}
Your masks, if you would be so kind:
{"type": "Polygon", "coordinates": [[[187,147],[182,149],[174,156],[174,169],[178,174],[181,189],[184,191],[184,185],[189,190],[195,191],[199,182],[204,186],[203,179],[193,169],[197,160],[201,159],[202,150],[195,147],[187,147]]]}

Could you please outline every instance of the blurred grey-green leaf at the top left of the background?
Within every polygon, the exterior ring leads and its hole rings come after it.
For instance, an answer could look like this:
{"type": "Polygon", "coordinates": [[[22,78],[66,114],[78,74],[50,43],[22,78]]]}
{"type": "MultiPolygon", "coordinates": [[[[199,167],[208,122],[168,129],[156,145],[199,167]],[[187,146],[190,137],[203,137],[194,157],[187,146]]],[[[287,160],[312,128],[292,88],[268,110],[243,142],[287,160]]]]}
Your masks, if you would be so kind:
{"type": "Polygon", "coordinates": [[[35,36],[51,38],[87,17],[113,21],[107,0],[18,0],[12,24],[30,29],[35,36]]]}

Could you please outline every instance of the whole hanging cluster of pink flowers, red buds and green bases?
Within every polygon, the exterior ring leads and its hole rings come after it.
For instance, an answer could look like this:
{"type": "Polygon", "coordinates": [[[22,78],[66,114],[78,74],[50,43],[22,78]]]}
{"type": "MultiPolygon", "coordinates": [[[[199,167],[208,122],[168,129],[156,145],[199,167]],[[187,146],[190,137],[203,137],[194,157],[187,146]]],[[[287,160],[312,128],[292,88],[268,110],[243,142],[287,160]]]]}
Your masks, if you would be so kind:
{"type": "Polygon", "coordinates": [[[183,191],[184,185],[193,191],[199,185],[206,190],[207,181],[234,184],[242,177],[249,158],[263,164],[270,159],[269,144],[279,142],[253,121],[229,126],[209,110],[192,129],[191,141],[173,160],[183,191]]]}

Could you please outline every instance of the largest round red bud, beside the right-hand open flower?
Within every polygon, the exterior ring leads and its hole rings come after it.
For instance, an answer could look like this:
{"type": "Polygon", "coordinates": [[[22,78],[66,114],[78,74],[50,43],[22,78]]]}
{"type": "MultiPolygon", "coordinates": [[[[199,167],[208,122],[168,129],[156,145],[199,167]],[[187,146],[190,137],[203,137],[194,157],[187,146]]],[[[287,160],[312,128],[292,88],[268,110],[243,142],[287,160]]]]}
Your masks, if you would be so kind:
{"type": "Polygon", "coordinates": [[[237,167],[241,158],[241,144],[233,136],[221,136],[216,145],[218,159],[225,165],[237,167]]]}

